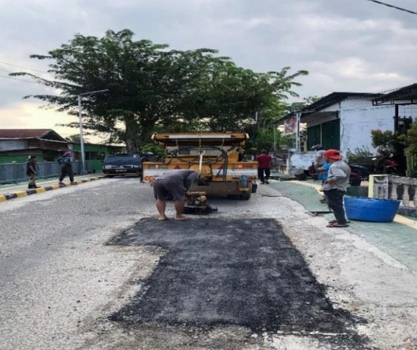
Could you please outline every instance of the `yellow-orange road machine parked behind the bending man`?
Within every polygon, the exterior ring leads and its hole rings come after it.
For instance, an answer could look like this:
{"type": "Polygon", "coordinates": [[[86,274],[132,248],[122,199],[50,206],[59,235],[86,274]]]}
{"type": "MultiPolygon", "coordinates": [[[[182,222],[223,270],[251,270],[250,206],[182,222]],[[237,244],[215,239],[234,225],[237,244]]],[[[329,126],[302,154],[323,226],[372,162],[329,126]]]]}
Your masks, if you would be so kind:
{"type": "Polygon", "coordinates": [[[152,139],[166,150],[161,162],[144,162],[144,180],[173,169],[200,171],[192,193],[226,195],[249,200],[256,192],[258,163],[244,161],[242,149],[246,133],[155,133],[152,139]]]}

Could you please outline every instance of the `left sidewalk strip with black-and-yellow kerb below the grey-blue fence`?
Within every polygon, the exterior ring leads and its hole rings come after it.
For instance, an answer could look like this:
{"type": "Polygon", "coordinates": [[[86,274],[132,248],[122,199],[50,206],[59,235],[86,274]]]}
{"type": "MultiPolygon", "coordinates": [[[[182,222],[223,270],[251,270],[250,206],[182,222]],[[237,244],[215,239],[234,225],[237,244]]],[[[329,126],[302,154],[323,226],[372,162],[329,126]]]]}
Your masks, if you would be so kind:
{"type": "Polygon", "coordinates": [[[57,190],[58,188],[66,186],[76,186],[83,184],[84,182],[90,182],[97,179],[101,179],[103,176],[98,175],[92,177],[89,175],[77,175],[74,177],[75,185],[70,185],[69,180],[64,181],[64,184],[58,184],[58,179],[39,179],[37,180],[37,186],[39,188],[28,189],[28,182],[20,182],[18,184],[5,184],[0,185],[0,202],[5,200],[12,200],[17,197],[25,197],[27,195],[34,195],[36,193],[43,193],[46,191],[57,190]]]}

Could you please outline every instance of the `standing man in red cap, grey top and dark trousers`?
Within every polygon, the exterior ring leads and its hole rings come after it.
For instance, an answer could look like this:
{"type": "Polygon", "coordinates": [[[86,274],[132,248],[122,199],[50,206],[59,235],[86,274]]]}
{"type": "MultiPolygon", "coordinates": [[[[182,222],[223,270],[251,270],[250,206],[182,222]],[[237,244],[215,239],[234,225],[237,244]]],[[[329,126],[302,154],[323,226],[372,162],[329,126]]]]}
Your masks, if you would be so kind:
{"type": "Polygon", "coordinates": [[[343,208],[343,196],[349,184],[351,168],[342,161],[340,150],[326,150],[324,157],[330,163],[327,180],[323,184],[323,192],[327,199],[327,204],[336,218],[331,220],[327,227],[347,227],[345,208],[343,208]]]}

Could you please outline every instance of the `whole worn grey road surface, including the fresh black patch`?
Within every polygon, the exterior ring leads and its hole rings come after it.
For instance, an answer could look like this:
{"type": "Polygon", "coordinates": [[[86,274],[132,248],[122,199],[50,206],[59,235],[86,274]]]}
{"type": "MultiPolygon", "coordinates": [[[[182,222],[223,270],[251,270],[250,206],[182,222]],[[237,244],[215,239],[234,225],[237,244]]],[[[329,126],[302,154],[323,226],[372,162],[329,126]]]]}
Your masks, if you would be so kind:
{"type": "Polygon", "coordinates": [[[135,178],[0,203],[0,349],[417,348],[415,273],[268,186],[211,204],[157,222],[135,178]]]}

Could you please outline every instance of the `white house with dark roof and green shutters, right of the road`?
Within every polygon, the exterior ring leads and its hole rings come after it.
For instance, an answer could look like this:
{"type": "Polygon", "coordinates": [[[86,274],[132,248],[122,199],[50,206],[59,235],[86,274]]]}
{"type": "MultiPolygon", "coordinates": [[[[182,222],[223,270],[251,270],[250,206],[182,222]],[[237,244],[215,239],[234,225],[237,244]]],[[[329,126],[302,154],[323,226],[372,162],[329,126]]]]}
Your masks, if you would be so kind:
{"type": "Polygon", "coordinates": [[[417,118],[417,84],[387,94],[331,93],[318,101],[290,113],[280,120],[289,130],[295,130],[297,142],[290,157],[289,167],[304,168],[311,164],[314,152],[311,147],[347,150],[372,146],[371,130],[404,131],[417,118]],[[307,125],[302,140],[300,124],[307,125]]]}

